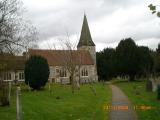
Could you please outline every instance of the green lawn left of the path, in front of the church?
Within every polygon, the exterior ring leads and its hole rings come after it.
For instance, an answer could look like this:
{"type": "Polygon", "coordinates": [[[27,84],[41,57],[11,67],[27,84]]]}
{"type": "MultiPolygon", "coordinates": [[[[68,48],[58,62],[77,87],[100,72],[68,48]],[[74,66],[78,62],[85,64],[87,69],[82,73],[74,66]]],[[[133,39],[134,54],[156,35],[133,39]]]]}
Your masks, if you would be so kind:
{"type": "MultiPolygon", "coordinates": [[[[107,120],[108,111],[104,111],[103,106],[111,103],[111,90],[100,83],[93,86],[97,96],[88,84],[82,85],[75,94],[69,85],[53,85],[52,94],[47,86],[37,92],[23,89],[23,120],[107,120]]],[[[16,120],[15,91],[12,94],[10,107],[0,107],[0,120],[16,120]]]]}

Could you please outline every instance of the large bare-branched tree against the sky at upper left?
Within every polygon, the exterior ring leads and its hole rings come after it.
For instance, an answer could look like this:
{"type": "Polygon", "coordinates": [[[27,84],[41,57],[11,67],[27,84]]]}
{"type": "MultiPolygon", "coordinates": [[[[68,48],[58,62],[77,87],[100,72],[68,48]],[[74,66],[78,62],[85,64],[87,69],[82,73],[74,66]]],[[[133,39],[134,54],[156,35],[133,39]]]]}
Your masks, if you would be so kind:
{"type": "Polygon", "coordinates": [[[20,0],[0,1],[0,52],[17,53],[36,40],[36,29],[25,20],[20,0]]]}

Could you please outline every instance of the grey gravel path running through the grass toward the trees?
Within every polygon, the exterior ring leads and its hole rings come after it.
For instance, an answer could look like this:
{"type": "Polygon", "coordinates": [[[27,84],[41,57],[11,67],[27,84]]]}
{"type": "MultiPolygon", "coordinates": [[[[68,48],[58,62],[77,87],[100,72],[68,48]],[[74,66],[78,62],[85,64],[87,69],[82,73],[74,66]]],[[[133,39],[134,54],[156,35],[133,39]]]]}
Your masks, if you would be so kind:
{"type": "Polygon", "coordinates": [[[110,85],[112,89],[112,105],[110,108],[110,120],[138,120],[134,107],[127,96],[115,85],[110,85]]]}

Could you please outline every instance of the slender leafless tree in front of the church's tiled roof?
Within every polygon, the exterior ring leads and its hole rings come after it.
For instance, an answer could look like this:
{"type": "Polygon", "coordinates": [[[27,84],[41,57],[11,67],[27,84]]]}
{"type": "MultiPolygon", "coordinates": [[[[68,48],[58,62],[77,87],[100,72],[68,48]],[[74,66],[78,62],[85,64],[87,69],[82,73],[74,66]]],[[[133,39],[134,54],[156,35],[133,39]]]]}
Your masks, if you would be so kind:
{"type": "Polygon", "coordinates": [[[75,88],[80,87],[81,51],[76,50],[76,45],[71,43],[68,34],[67,38],[63,40],[62,43],[64,49],[62,52],[64,68],[69,72],[72,93],[74,93],[75,88]]]}

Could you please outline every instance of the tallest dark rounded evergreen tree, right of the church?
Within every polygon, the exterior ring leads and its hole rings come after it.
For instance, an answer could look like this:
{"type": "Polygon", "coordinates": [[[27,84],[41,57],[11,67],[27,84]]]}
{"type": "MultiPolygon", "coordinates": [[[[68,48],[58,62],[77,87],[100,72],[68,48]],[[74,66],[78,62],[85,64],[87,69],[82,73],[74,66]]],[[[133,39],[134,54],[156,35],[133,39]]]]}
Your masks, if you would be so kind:
{"type": "Polygon", "coordinates": [[[134,80],[139,69],[138,49],[131,38],[121,40],[116,48],[116,68],[121,76],[128,75],[134,80]]]}

